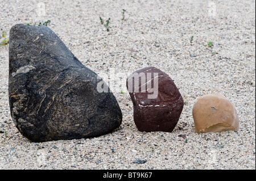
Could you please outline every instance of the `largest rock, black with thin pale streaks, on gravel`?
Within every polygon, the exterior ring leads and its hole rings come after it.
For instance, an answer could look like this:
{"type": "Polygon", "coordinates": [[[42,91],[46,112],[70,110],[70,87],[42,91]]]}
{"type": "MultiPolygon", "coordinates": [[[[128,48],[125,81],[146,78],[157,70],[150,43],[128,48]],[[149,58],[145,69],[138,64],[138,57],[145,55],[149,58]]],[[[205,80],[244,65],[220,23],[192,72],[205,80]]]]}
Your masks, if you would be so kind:
{"type": "Polygon", "coordinates": [[[24,137],[70,140],[119,127],[122,112],[113,93],[97,91],[102,79],[48,27],[16,24],[9,47],[10,111],[24,137]]]}

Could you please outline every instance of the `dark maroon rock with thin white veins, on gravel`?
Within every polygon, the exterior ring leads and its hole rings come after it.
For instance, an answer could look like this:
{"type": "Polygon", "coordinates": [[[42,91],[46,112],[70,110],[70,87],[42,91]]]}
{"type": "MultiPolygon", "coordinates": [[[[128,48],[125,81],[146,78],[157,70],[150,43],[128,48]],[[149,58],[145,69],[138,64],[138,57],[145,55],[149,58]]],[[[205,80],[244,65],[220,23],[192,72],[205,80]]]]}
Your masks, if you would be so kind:
{"type": "Polygon", "coordinates": [[[154,67],[137,70],[127,78],[126,86],[134,106],[134,122],[139,131],[174,130],[184,102],[174,81],[166,73],[154,67]],[[145,78],[146,81],[143,81],[145,78]]]}

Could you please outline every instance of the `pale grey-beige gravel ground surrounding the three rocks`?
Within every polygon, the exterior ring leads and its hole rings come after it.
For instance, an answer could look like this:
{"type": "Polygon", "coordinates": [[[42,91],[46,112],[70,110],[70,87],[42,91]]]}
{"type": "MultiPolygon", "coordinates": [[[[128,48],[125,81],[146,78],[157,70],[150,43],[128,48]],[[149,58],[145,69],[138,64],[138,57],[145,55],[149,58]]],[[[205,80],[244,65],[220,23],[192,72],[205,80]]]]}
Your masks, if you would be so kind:
{"type": "Polygon", "coordinates": [[[11,120],[9,45],[0,45],[0,169],[255,169],[255,1],[1,0],[0,9],[7,38],[14,24],[51,20],[72,53],[110,82],[123,113],[121,127],[104,136],[27,140],[11,120]],[[100,17],[110,18],[109,32],[100,17]],[[147,66],[170,75],[183,96],[171,133],[134,124],[124,85],[147,66]],[[192,107],[205,94],[231,100],[238,132],[195,133],[192,107]]]}

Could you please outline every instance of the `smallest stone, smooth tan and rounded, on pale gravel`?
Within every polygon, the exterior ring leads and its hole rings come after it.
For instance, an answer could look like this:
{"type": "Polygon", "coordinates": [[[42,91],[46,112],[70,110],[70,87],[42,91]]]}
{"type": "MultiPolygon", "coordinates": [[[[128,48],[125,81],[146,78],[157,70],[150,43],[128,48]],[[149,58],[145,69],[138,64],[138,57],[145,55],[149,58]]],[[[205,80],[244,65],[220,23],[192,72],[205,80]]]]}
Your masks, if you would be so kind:
{"type": "Polygon", "coordinates": [[[192,114],[196,132],[238,131],[239,119],[236,108],[225,96],[201,96],[196,100],[192,114]]]}

